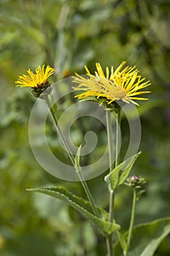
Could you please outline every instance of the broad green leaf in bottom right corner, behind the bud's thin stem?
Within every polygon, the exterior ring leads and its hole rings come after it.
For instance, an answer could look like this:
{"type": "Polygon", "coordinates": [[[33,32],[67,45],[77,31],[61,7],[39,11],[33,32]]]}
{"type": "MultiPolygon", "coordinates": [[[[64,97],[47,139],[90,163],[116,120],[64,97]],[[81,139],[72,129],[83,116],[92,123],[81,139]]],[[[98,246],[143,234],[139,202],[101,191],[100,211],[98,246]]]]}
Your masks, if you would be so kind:
{"type": "MultiPolygon", "coordinates": [[[[152,256],[170,233],[170,217],[134,227],[128,256],[152,256]]],[[[125,238],[127,238],[127,233],[125,238]]],[[[122,255],[120,242],[115,244],[115,255],[122,255]]]]}

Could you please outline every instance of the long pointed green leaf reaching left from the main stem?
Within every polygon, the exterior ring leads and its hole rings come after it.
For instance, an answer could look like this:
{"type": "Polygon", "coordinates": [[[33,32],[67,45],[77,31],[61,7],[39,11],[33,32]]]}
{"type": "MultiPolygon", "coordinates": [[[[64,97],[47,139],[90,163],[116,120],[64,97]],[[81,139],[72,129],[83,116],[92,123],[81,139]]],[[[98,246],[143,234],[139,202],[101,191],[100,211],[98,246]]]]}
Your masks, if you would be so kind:
{"type": "Polygon", "coordinates": [[[117,225],[115,222],[110,223],[105,219],[108,219],[107,211],[104,211],[102,208],[97,208],[98,213],[101,215],[101,218],[93,215],[93,209],[90,206],[90,203],[87,200],[84,200],[81,197],[73,195],[71,192],[63,189],[61,187],[55,188],[37,188],[37,189],[27,189],[28,191],[40,192],[46,195],[51,195],[60,200],[63,200],[66,203],[69,203],[70,206],[80,211],[80,213],[87,218],[94,226],[98,227],[98,230],[101,233],[111,234],[120,229],[120,225],[117,225]]]}

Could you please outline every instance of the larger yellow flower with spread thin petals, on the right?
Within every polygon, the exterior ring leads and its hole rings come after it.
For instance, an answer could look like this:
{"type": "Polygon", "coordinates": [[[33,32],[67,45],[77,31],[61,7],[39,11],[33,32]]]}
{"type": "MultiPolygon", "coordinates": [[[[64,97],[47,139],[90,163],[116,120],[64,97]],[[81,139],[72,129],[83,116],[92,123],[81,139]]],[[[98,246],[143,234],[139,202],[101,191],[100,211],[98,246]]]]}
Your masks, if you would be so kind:
{"type": "Polygon", "coordinates": [[[136,67],[124,67],[123,61],[117,69],[111,67],[109,74],[109,67],[104,74],[101,64],[96,63],[95,75],[91,75],[88,67],[85,66],[88,78],[84,78],[76,73],[73,77],[73,82],[78,83],[79,86],[73,87],[76,91],[84,91],[76,95],[78,99],[89,99],[89,97],[96,97],[97,99],[104,98],[107,104],[122,100],[125,103],[134,103],[139,105],[134,100],[146,100],[146,98],[139,97],[140,94],[148,94],[150,91],[141,91],[147,86],[150,86],[150,81],[144,81],[139,75],[139,70],[136,67]],[[122,70],[121,70],[122,69],[122,70]]]}

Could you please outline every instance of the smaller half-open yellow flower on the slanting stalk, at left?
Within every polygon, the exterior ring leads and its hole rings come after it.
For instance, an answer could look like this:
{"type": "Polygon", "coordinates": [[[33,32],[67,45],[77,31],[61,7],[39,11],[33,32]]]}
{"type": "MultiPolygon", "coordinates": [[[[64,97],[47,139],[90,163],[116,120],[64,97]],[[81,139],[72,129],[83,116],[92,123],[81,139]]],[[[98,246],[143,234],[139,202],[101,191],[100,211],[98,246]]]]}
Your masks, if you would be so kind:
{"type": "Polygon", "coordinates": [[[15,81],[17,86],[28,86],[33,89],[43,89],[49,86],[47,78],[49,78],[50,75],[53,75],[55,69],[53,69],[53,67],[50,67],[49,65],[47,65],[45,69],[45,65],[43,65],[42,68],[40,66],[37,67],[36,74],[34,74],[31,69],[28,69],[27,72],[28,75],[19,76],[18,80],[15,81]]]}

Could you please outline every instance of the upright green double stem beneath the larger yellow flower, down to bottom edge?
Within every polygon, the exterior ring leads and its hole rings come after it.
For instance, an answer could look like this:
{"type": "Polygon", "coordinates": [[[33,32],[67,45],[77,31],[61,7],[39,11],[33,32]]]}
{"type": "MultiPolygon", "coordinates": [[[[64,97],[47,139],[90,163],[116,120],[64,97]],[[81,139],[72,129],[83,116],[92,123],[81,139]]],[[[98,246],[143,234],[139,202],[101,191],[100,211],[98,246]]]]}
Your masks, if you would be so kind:
{"type": "MultiPolygon", "coordinates": [[[[106,110],[107,116],[107,138],[108,138],[108,150],[109,150],[109,171],[112,171],[113,163],[113,143],[112,143],[112,121],[111,112],[106,110]]],[[[119,165],[119,148],[120,148],[120,108],[117,109],[116,116],[116,147],[115,147],[115,167],[119,165]]],[[[109,222],[112,223],[114,217],[114,202],[115,202],[115,191],[110,189],[109,191],[109,222]]],[[[106,237],[107,240],[107,252],[108,256],[113,256],[113,246],[112,246],[112,234],[106,237]]]]}

